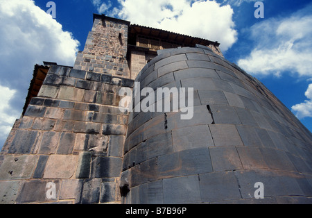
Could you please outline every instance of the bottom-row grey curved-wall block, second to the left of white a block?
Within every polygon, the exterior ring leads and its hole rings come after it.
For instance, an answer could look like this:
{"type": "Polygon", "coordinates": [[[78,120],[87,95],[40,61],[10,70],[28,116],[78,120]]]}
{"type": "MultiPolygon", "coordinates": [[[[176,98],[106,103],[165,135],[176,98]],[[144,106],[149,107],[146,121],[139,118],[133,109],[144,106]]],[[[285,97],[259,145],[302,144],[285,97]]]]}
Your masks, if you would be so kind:
{"type": "Polygon", "coordinates": [[[198,203],[200,185],[198,175],[166,178],[163,180],[164,203],[198,203]]]}

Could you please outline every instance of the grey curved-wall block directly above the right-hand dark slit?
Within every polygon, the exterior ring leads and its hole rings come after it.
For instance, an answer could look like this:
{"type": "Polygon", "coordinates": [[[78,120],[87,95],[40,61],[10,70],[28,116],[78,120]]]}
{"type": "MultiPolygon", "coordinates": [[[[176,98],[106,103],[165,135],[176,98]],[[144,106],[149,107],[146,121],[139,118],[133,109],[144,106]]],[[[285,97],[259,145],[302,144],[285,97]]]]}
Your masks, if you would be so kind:
{"type": "Polygon", "coordinates": [[[200,97],[200,102],[202,103],[202,105],[229,105],[227,99],[225,98],[225,95],[221,91],[198,90],[198,95],[200,97]]]}

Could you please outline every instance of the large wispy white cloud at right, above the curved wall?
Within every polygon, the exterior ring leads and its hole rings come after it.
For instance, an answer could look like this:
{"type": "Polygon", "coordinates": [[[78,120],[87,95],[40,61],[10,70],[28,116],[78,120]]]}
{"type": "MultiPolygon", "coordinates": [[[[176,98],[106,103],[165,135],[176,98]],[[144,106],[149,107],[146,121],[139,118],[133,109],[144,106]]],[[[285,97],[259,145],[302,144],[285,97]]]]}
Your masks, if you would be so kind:
{"type": "Polygon", "coordinates": [[[267,19],[252,26],[250,34],[257,45],[238,61],[250,74],[312,76],[312,15],[267,19]]]}

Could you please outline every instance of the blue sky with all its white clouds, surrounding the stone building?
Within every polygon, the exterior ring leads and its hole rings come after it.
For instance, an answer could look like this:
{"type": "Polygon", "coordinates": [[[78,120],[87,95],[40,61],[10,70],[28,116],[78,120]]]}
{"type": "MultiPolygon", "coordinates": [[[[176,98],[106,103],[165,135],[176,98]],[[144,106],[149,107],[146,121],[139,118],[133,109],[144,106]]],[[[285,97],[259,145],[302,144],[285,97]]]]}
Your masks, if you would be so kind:
{"type": "Polygon", "coordinates": [[[73,65],[93,13],[221,43],[225,58],[259,79],[312,131],[312,1],[263,0],[0,1],[0,147],[21,115],[33,66],[73,65]],[[311,85],[310,85],[311,84],[311,85]]]}

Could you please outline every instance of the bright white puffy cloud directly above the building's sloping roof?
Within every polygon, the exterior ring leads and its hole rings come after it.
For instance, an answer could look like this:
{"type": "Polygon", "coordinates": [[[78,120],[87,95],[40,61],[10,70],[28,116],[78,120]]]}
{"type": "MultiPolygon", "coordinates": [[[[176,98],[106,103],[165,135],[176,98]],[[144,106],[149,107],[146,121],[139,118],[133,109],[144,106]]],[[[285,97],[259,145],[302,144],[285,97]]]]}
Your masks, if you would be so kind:
{"type": "MultiPolygon", "coordinates": [[[[96,2],[94,5],[99,10],[101,3],[96,2]]],[[[119,7],[107,8],[107,15],[132,24],[218,41],[223,51],[237,40],[232,20],[234,11],[231,6],[221,6],[216,1],[119,0],[119,4],[119,7]]]]}

